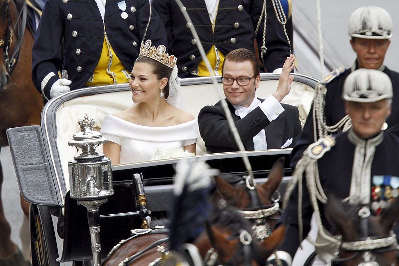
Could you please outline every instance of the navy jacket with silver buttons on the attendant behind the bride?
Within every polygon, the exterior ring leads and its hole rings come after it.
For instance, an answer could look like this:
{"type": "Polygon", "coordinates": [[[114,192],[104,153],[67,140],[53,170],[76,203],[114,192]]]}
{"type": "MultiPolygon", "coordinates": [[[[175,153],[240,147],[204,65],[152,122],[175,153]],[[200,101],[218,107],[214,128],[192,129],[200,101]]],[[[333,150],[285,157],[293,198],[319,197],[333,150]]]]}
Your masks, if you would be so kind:
{"type": "MultiPolygon", "coordinates": [[[[106,1],[104,24],[112,48],[130,73],[139,55],[150,5],[148,0],[125,0],[128,17],[123,19],[120,1],[106,1]]],[[[66,71],[71,89],[85,85],[101,55],[104,24],[95,0],[47,0],[32,48],[32,80],[40,93],[49,98],[58,75],[48,80],[43,91],[41,85],[51,72],[66,71]],[[65,52],[61,66],[62,40],[65,52]]],[[[145,38],[151,39],[153,45],[167,45],[165,27],[154,8],[145,38]]]]}

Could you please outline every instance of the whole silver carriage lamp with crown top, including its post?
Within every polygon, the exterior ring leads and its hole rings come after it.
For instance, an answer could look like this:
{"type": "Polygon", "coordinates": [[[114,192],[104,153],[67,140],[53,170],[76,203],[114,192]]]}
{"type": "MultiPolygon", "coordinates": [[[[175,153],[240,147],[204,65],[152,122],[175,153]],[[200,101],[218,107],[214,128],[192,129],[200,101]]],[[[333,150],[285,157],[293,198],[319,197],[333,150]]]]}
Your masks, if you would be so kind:
{"type": "Polygon", "coordinates": [[[100,214],[99,207],[114,193],[112,186],[111,160],[96,148],[108,142],[100,132],[93,130],[94,119],[85,115],[79,120],[81,131],[73,134],[69,146],[75,146],[82,153],[68,162],[70,196],[87,208],[91,250],[94,266],[101,265],[100,214]]]}

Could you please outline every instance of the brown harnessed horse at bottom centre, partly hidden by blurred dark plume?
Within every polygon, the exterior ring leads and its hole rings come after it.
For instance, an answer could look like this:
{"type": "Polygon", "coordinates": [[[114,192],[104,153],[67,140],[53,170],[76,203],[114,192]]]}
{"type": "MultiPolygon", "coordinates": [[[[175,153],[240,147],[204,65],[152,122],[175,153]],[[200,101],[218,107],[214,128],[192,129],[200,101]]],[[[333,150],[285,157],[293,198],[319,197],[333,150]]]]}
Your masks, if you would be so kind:
{"type": "MultiPolygon", "coordinates": [[[[191,256],[190,260],[195,266],[265,265],[267,258],[282,243],[285,229],[285,225],[278,227],[264,241],[252,239],[250,223],[235,209],[217,209],[207,223],[206,230],[193,244],[185,244],[183,247],[185,251],[190,251],[187,254],[191,256]]],[[[132,231],[134,236],[121,241],[102,265],[164,265],[165,261],[161,260],[164,257],[161,251],[164,249],[160,249],[160,246],[168,247],[165,229],[132,231]],[[157,230],[161,231],[157,233],[157,230]]]]}

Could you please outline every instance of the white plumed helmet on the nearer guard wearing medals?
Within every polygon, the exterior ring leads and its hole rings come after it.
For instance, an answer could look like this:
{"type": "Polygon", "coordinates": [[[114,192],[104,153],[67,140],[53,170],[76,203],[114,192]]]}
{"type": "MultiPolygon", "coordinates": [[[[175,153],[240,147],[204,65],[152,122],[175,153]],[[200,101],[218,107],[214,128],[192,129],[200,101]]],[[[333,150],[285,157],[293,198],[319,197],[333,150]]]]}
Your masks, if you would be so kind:
{"type": "Polygon", "coordinates": [[[392,82],[382,71],[361,68],[345,80],[342,98],[347,101],[376,102],[392,98],[392,82]]]}

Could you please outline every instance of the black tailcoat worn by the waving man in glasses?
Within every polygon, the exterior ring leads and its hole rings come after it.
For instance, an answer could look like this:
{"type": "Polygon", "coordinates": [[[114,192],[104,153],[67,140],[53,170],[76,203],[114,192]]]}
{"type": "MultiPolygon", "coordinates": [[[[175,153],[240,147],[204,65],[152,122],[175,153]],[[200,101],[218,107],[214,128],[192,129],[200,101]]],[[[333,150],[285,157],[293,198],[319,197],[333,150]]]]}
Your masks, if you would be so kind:
{"type": "MultiPolygon", "coordinates": [[[[263,101],[263,99],[259,100],[263,101]]],[[[286,147],[291,148],[299,139],[302,130],[299,111],[295,106],[282,103],[285,111],[270,122],[259,106],[241,119],[235,114],[234,106],[228,101],[227,104],[241,141],[248,151],[254,150],[253,137],[262,129],[265,129],[268,149],[280,149],[288,139],[292,138],[291,145],[286,147]]],[[[220,101],[214,106],[205,106],[200,110],[198,124],[208,152],[238,151],[220,101]]]]}

